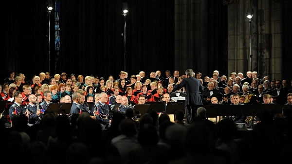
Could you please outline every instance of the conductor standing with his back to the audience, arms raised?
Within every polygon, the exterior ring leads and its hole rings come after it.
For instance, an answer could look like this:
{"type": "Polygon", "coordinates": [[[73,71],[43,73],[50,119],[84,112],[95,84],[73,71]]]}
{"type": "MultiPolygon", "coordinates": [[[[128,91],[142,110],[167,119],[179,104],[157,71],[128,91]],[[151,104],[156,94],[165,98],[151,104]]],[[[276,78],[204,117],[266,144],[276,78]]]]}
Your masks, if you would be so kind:
{"type": "Polygon", "coordinates": [[[186,96],[184,102],[184,115],[185,115],[185,123],[191,124],[192,118],[197,115],[198,107],[202,106],[201,96],[199,94],[200,89],[200,80],[193,77],[195,73],[192,69],[187,69],[185,71],[186,78],[183,78],[181,83],[177,83],[174,87],[174,90],[180,90],[181,88],[185,88],[186,96]]]}

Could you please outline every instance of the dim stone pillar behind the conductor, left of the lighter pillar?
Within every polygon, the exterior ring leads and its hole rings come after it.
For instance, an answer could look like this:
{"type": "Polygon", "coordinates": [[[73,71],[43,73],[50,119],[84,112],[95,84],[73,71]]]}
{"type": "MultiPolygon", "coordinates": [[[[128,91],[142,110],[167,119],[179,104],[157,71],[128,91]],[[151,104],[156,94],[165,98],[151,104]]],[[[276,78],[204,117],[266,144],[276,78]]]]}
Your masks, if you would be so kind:
{"type": "Polygon", "coordinates": [[[193,69],[206,75],[208,68],[207,0],[175,0],[175,70],[193,69]]]}

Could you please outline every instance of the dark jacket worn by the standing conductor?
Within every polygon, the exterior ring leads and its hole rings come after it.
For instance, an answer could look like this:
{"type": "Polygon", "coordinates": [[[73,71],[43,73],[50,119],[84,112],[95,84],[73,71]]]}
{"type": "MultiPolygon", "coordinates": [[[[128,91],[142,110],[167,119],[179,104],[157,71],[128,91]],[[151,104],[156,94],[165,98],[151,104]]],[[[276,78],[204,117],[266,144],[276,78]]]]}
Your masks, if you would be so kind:
{"type": "Polygon", "coordinates": [[[174,90],[180,90],[185,88],[185,102],[184,106],[187,105],[203,105],[201,96],[199,94],[201,82],[194,77],[183,78],[183,81],[174,87],[174,90]]]}

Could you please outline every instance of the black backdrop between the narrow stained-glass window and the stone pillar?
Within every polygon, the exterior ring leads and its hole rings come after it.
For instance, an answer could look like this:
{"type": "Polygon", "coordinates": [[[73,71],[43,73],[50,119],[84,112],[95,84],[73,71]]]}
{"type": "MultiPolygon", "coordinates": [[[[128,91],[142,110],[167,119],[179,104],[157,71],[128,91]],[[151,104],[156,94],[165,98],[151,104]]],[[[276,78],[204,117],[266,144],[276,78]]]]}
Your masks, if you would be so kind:
{"type": "MultiPolygon", "coordinates": [[[[58,73],[119,77],[174,68],[173,0],[63,0],[58,73]]],[[[174,71],[174,70],[173,70],[174,71]]]]}

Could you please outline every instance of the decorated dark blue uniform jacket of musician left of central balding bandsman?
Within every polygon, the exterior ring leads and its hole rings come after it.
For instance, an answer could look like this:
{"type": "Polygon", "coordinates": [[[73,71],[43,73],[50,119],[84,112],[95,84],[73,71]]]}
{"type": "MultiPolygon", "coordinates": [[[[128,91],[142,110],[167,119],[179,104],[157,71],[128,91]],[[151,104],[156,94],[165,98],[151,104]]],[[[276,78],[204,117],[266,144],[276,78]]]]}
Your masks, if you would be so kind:
{"type": "Polygon", "coordinates": [[[109,105],[108,104],[102,105],[101,103],[98,103],[96,104],[96,109],[98,110],[99,113],[99,115],[96,115],[96,119],[99,120],[99,122],[103,125],[109,125],[111,120],[109,105]]]}

